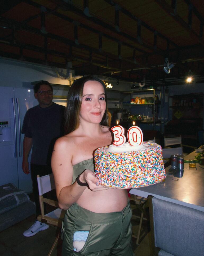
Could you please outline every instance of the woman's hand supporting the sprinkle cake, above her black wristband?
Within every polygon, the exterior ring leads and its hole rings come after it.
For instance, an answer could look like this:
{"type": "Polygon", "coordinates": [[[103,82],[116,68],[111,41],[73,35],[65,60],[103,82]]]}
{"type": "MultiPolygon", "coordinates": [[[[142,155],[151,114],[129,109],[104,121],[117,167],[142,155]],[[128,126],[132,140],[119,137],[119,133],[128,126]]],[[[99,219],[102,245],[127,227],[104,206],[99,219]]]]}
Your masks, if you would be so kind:
{"type": "Polygon", "coordinates": [[[82,172],[80,175],[80,181],[81,182],[86,182],[88,184],[88,187],[92,191],[98,191],[98,190],[107,190],[107,187],[104,187],[99,184],[99,180],[96,179],[94,172],[92,172],[89,169],[86,169],[85,171],[82,172]]]}

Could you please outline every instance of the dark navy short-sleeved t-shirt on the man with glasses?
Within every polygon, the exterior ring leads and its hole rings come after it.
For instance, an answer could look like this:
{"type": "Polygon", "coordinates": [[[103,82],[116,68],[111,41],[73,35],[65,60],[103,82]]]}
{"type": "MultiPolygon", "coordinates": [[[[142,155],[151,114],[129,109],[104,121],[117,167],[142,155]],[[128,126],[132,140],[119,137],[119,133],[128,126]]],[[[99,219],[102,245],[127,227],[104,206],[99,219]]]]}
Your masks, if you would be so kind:
{"type": "Polygon", "coordinates": [[[64,134],[64,110],[53,102],[47,108],[37,105],[26,112],[21,133],[33,138],[32,164],[50,165],[54,143],[64,134]]]}

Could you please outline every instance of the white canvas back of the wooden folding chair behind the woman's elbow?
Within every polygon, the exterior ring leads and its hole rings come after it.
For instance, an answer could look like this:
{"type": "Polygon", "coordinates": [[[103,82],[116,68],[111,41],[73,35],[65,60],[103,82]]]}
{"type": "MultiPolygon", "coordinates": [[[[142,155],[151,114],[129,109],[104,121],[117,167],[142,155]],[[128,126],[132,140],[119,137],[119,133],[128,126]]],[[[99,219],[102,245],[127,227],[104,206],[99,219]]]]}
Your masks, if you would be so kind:
{"type": "Polygon", "coordinates": [[[55,189],[55,180],[53,174],[37,177],[39,196],[55,189]]]}

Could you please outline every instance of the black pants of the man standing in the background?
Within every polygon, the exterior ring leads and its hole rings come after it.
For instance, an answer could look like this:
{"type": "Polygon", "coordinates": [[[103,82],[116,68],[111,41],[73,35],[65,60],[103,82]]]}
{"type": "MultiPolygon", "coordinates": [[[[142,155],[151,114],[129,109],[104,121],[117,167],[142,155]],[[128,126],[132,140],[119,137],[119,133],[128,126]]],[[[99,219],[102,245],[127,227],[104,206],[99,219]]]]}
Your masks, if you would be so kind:
{"type": "MultiPolygon", "coordinates": [[[[44,176],[47,174],[52,173],[52,169],[50,166],[41,165],[41,164],[30,164],[31,170],[31,178],[33,181],[33,194],[34,194],[34,201],[36,203],[36,217],[41,214],[40,203],[39,203],[39,193],[38,193],[38,182],[37,182],[37,175],[44,176]]],[[[46,208],[44,207],[45,211],[46,208]]]]}

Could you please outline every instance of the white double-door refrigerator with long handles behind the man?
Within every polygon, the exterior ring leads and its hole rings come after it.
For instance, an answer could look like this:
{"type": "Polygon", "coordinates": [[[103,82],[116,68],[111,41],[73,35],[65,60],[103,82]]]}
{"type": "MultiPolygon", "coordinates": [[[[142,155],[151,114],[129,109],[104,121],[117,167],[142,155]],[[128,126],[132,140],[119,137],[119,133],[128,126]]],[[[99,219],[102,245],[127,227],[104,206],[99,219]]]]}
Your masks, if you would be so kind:
{"type": "Polygon", "coordinates": [[[0,104],[0,185],[13,183],[32,192],[30,174],[21,168],[24,134],[20,132],[26,111],[38,102],[32,89],[0,86],[0,104]]]}

